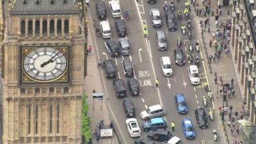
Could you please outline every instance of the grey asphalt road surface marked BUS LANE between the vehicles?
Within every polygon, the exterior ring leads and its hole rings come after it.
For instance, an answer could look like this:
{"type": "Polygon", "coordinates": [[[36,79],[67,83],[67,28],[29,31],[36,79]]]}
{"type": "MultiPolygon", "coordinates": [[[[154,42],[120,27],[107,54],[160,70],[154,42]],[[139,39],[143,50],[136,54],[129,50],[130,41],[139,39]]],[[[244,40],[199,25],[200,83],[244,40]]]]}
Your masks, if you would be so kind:
{"type": "MultiPolygon", "coordinates": [[[[202,139],[205,140],[206,143],[221,143],[221,139],[218,142],[214,142],[212,138],[212,130],[219,129],[218,122],[214,120],[214,122],[209,121],[209,127],[207,129],[200,129],[198,128],[195,120],[195,109],[199,107],[203,107],[202,104],[202,97],[203,95],[207,95],[204,90],[204,82],[206,81],[207,74],[205,74],[204,67],[202,65],[202,61],[200,61],[200,75],[201,75],[201,84],[198,86],[193,86],[189,83],[188,77],[188,61],[186,60],[186,65],[184,66],[177,66],[175,65],[174,57],[173,57],[173,50],[177,48],[177,38],[178,36],[182,36],[182,40],[184,43],[182,44],[181,49],[186,52],[188,47],[188,35],[183,36],[180,32],[181,24],[186,24],[186,20],[184,20],[183,10],[184,10],[184,1],[180,1],[180,3],[175,2],[175,14],[177,15],[177,10],[179,9],[182,13],[182,21],[178,20],[178,29],[177,31],[168,31],[166,26],[166,20],[164,19],[164,12],[163,12],[163,1],[157,1],[156,4],[148,4],[145,1],[138,0],[138,5],[136,5],[136,0],[134,1],[125,1],[120,0],[120,5],[122,11],[129,11],[129,20],[125,20],[126,28],[127,28],[127,38],[131,44],[131,56],[119,56],[118,58],[111,58],[109,56],[108,51],[104,47],[104,39],[101,37],[97,37],[95,35],[95,26],[92,24],[92,19],[97,20],[97,26],[99,26],[100,20],[97,19],[97,13],[95,9],[95,3],[100,0],[90,1],[90,10],[89,10],[89,21],[90,27],[93,31],[93,40],[94,45],[97,49],[97,54],[99,58],[102,60],[112,59],[116,62],[116,68],[118,70],[117,78],[121,78],[126,81],[126,77],[124,76],[124,72],[122,70],[122,59],[129,58],[132,60],[134,65],[134,72],[136,79],[140,82],[140,90],[141,96],[139,97],[132,97],[128,95],[127,98],[131,99],[134,102],[134,106],[136,108],[136,118],[140,124],[145,122],[140,118],[140,112],[146,109],[148,106],[152,106],[154,104],[161,104],[166,109],[167,114],[164,116],[166,122],[168,123],[168,129],[170,130],[170,124],[172,121],[175,122],[175,132],[172,132],[173,135],[178,136],[183,143],[200,143],[202,139]],[[161,10],[162,16],[162,27],[161,28],[153,28],[150,23],[150,9],[151,8],[159,8],[161,10]],[[143,28],[142,28],[142,21],[147,22],[148,26],[148,36],[144,38],[143,36],[143,28]],[[167,51],[159,51],[156,47],[156,31],[161,30],[164,31],[168,38],[168,49],[167,51]],[[163,76],[163,72],[161,70],[160,65],[160,58],[162,56],[170,56],[172,63],[173,63],[173,76],[165,77],[163,76]],[[159,88],[156,88],[155,79],[156,77],[159,79],[159,88]],[[188,102],[189,112],[186,115],[180,115],[177,113],[174,104],[174,96],[176,93],[183,93],[186,97],[188,102]],[[187,140],[184,137],[182,129],[180,127],[180,122],[184,118],[190,118],[193,122],[195,127],[195,139],[194,140],[187,140]]],[[[115,30],[115,20],[111,17],[111,13],[109,11],[109,1],[105,1],[106,8],[107,8],[107,19],[109,24],[111,25],[112,30],[112,38],[113,40],[118,40],[118,36],[115,30]]],[[[170,1],[169,1],[170,3],[170,1]]],[[[198,39],[196,35],[196,26],[193,22],[193,15],[189,15],[192,20],[192,41],[198,39]]],[[[120,19],[120,18],[118,18],[120,19]]],[[[94,51],[95,52],[95,51],[94,51]]],[[[193,52],[194,61],[195,56],[200,56],[200,52],[193,52]]],[[[102,73],[104,74],[104,72],[102,73]]],[[[103,75],[104,76],[104,75],[103,75]]],[[[115,120],[117,122],[118,128],[121,131],[122,139],[124,139],[125,144],[134,143],[134,138],[129,136],[129,132],[127,131],[127,127],[125,125],[125,120],[127,119],[124,115],[124,109],[122,108],[122,100],[118,99],[115,95],[115,90],[113,89],[111,79],[102,79],[104,84],[104,89],[106,94],[109,97],[109,105],[111,111],[114,114],[115,120]]],[[[206,111],[212,109],[213,105],[209,104],[206,111]]],[[[141,129],[143,138],[147,137],[147,132],[143,132],[141,129]]],[[[220,135],[219,135],[220,136],[220,135]]],[[[160,143],[155,141],[155,143],[160,143]]]]}

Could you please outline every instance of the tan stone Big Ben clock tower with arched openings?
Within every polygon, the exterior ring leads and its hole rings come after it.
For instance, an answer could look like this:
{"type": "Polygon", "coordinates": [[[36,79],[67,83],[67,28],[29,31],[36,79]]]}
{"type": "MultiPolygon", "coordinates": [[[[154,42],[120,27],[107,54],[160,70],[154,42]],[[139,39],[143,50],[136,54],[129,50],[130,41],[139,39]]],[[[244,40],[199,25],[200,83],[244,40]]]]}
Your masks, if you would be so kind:
{"type": "Polygon", "coordinates": [[[6,1],[4,144],[81,143],[82,7],[79,0],[6,1]]]}

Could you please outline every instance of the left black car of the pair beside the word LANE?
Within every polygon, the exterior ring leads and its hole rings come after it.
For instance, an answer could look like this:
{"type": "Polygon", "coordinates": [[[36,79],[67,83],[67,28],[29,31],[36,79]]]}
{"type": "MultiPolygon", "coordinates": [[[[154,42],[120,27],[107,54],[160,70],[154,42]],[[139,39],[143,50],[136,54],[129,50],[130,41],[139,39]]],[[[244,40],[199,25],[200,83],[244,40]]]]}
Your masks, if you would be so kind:
{"type": "Polygon", "coordinates": [[[126,97],[127,96],[127,91],[126,91],[123,79],[115,79],[113,81],[113,87],[116,90],[117,97],[126,97]]]}

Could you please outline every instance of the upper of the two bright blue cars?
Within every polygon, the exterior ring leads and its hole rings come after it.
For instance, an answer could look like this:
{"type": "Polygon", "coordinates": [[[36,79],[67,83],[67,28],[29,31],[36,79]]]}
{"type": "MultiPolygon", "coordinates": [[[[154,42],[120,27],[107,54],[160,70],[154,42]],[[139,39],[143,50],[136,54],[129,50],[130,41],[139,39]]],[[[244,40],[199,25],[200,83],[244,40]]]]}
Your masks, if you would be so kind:
{"type": "Polygon", "coordinates": [[[188,113],[187,102],[182,93],[177,93],[174,97],[174,101],[175,101],[175,106],[177,108],[178,113],[180,114],[188,113]]]}

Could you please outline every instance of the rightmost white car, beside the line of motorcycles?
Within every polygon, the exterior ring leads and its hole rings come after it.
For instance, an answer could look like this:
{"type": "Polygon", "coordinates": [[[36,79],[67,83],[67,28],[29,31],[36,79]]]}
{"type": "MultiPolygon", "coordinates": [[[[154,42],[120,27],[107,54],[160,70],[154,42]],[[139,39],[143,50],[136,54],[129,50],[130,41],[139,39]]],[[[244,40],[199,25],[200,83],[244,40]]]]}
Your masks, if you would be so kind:
{"type": "Polygon", "coordinates": [[[189,65],[188,67],[188,76],[191,84],[200,83],[200,75],[198,72],[198,67],[196,65],[189,65]]]}

